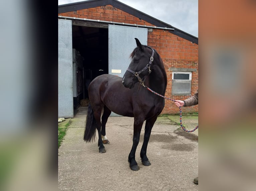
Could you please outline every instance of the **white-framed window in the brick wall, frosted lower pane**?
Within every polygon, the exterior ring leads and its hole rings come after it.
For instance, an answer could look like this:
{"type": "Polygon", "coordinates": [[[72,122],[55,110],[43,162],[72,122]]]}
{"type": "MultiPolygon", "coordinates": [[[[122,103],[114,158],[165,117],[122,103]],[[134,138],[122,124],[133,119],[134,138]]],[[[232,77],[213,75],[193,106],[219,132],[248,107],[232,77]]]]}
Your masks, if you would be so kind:
{"type": "Polygon", "coordinates": [[[191,94],[192,72],[172,72],[171,94],[191,94]]]}

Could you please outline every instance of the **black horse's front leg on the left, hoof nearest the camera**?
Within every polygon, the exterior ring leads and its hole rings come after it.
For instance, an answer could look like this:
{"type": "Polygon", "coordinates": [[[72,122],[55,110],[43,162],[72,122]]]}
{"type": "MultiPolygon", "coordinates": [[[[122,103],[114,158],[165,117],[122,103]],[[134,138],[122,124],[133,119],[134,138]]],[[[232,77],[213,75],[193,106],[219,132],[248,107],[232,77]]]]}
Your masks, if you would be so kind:
{"type": "Polygon", "coordinates": [[[130,164],[130,168],[131,170],[139,170],[140,167],[138,166],[138,163],[136,162],[135,160],[135,152],[136,152],[136,149],[137,149],[137,146],[139,144],[139,140],[140,140],[140,132],[141,132],[141,128],[142,128],[142,125],[143,125],[143,121],[140,122],[139,124],[137,123],[135,125],[135,119],[134,119],[134,126],[133,126],[133,143],[132,143],[132,149],[131,149],[131,152],[129,154],[129,157],[128,157],[128,162],[130,164]]]}

